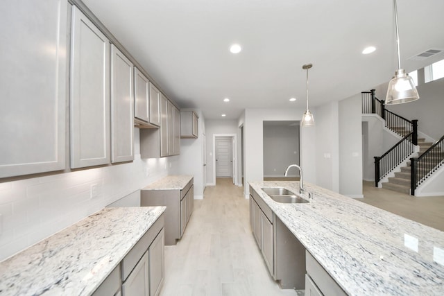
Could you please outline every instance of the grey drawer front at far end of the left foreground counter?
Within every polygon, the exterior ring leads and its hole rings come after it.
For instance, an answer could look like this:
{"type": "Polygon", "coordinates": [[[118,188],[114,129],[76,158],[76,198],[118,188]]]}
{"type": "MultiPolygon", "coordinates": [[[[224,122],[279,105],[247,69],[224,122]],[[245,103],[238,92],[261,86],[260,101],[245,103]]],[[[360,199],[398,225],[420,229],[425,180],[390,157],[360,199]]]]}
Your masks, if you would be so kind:
{"type": "Polygon", "coordinates": [[[142,257],[144,252],[148,250],[149,245],[154,241],[154,238],[164,227],[164,215],[160,216],[157,221],[148,229],[148,232],[140,238],[133,249],[126,254],[121,262],[121,276],[122,281],[125,281],[128,275],[130,275],[131,270],[135,267],[139,259],[142,257]]]}

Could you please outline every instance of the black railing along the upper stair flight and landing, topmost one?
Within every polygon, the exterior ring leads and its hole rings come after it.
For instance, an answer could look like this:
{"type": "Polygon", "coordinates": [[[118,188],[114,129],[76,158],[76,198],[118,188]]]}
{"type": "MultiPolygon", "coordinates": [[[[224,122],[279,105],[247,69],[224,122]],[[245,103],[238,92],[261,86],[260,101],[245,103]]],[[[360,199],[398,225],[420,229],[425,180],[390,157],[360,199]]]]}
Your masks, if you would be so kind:
{"type": "Polygon", "coordinates": [[[407,134],[413,132],[411,141],[414,145],[418,145],[418,120],[405,119],[398,114],[395,114],[389,110],[386,110],[385,102],[379,100],[375,96],[375,89],[370,92],[361,92],[362,97],[362,113],[363,114],[377,114],[385,120],[385,126],[389,130],[399,134],[401,137],[407,136],[407,134]]]}

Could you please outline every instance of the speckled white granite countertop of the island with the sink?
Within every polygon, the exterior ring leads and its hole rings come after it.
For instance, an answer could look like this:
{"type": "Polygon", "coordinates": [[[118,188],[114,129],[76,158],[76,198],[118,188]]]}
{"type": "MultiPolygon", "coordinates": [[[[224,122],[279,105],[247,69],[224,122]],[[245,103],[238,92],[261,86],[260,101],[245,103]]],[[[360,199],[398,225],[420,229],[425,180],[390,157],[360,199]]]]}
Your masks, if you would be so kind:
{"type": "Polygon", "coordinates": [[[263,187],[298,193],[299,182],[250,182],[349,295],[444,295],[444,232],[313,184],[306,204],[273,201],[263,187]]]}

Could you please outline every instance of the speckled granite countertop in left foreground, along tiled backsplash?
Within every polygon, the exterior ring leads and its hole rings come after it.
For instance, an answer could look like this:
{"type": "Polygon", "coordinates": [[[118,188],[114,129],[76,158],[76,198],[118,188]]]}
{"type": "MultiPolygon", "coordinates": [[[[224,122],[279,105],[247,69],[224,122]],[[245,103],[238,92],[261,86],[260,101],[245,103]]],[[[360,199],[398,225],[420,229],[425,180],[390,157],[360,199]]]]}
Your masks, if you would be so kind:
{"type": "Polygon", "coordinates": [[[0,262],[0,295],[91,295],[165,211],[105,208],[0,262]]]}

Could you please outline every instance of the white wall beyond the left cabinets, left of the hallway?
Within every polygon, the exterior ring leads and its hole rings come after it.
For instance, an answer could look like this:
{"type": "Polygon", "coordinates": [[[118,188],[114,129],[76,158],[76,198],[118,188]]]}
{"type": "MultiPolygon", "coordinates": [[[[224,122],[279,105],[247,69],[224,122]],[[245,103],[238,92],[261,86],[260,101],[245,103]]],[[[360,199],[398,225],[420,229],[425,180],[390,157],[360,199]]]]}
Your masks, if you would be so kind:
{"type": "MultiPolygon", "coordinates": [[[[185,109],[183,109],[185,110],[185,109]]],[[[183,111],[182,110],[182,111],[183,111]]],[[[194,109],[198,114],[198,138],[180,139],[180,155],[171,158],[171,175],[194,175],[194,198],[203,198],[203,134],[206,134],[205,119],[201,110],[194,109]]]]}

